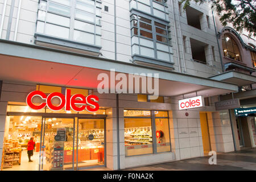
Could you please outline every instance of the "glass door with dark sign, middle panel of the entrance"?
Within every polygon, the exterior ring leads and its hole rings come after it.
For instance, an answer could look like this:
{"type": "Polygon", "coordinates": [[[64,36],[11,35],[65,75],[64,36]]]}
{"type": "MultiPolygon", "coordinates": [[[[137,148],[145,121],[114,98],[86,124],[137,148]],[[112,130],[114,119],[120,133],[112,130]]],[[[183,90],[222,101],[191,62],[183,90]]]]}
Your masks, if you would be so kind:
{"type": "Polygon", "coordinates": [[[74,169],[75,118],[42,120],[39,170],[74,169]]]}

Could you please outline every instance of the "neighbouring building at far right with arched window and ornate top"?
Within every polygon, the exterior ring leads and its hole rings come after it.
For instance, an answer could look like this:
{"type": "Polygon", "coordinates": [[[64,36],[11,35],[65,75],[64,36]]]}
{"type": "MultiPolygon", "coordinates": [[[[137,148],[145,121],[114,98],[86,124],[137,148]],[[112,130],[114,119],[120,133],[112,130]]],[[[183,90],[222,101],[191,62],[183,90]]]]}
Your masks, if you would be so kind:
{"type": "Polygon", "coordinates": [[[229,110],[230,114],[233,115],[231,118],[236,150],[241,150],[244,147],[255,147],[256,39],[250,37],[246,31],[237,32],[232,28],[232,24],[228,24],[226,27],[221,26],[217,18],[216,24],[224,73],[212,78],[238,85],[238,92],[220,96],[220,100],[240,100],[242,109],[229,110]],[[246,111],[249,113],[246,114],[246,111]]]}

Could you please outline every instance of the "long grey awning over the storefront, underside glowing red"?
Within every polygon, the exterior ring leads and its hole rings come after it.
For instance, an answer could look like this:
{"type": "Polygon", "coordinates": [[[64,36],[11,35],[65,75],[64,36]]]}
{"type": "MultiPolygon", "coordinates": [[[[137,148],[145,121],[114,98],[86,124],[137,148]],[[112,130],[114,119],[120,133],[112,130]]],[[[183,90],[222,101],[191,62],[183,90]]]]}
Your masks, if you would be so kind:
{"type": "MultiPolygon", "coordinates": [[[[216,96],[238,87],[209,78],[82,55],[52,48],[0,40],[0,80],[96,89],[97,76],[115,73],[159,73],[159,96],[216,96]]],[[[142,86],[142,85],[140,85],[142,86]]]]}

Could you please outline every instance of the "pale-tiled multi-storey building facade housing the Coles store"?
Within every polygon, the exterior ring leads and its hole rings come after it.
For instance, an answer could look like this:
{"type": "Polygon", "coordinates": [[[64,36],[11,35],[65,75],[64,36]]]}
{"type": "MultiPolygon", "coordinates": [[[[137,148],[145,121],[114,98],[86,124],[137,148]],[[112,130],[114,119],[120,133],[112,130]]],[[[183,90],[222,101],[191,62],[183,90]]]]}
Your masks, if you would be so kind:
{"type": "MultiPolygon", "coordinates": [[[[2,0],[0,10],[3,170],[124,169],[235,150],[235,116],[214,103],[241,85],[215,78],[225,56],[209,5],[183,11],[176,0],[2,0]],[[98,93],[98,75],[111,78],[113,69],[115,80],[142,74],[139,92],[98,93]],[[156,100],[142,92],[151,77],[159,77],[156,100]],[[100,109],[33,110],[26,98],[35,90],[93,94],[100,109]],[[179,100],[197,96],[203,107],[179,109],[179,100]],[[61,131],[67,137],[56,139],[61,131]],[[32,136],[35,159],[28,163],[32,136]]],[[[117,81],[109,84],[111,90],[117,81]]]]}

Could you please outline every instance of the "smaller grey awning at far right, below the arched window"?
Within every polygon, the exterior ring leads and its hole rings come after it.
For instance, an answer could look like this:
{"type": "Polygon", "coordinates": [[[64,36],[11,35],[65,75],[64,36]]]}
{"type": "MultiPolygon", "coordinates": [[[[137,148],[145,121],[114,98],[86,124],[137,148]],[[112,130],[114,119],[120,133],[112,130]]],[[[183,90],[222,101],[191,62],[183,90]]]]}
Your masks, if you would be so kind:
{"type": "Polygon", "coordinates": [[[256,83],[256,77],[252,75],[246,75],[244,73],[236,71],[228,71],[216,76],[210,77],[213,80],[225,81],[237,86],[245,86],[256,83]]]}

